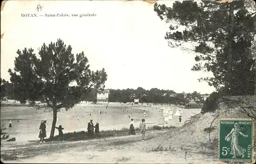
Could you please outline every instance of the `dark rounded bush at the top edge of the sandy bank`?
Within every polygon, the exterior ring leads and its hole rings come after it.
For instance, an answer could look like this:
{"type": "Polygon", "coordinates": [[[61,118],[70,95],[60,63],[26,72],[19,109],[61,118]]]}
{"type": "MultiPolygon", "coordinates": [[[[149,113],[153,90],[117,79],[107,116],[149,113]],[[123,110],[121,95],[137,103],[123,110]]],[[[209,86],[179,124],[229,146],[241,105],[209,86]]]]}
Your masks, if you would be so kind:
{"type": "Polygon", "coordinates": [[[212,92],[205,100],[201,113],[214,112],[218,108],[218,100],[220,99],[219,92],[212,92]]]}

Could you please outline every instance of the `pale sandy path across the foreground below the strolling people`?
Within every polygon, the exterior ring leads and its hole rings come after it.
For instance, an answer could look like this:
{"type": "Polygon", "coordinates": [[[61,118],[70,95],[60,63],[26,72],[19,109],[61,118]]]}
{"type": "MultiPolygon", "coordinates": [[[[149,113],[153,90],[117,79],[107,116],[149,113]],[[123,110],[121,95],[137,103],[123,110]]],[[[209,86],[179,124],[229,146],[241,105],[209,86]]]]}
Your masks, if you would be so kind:
{"type": "MultiPolygon", "coordinates": [[[[147,132],[147,137],[152,138],[164,133],[166,131],[147,132]]],[[[181,150],[153,152],[143,143],[140,135],[78,142],[50,142],[42,145],[37,142],[18,145],[10,143],[1,147],[1,156],[7,153],[15,154],[18,159],[4,161],[11,163],[216,163],[215,159],[196,151],[187,152],[186,155],[181,150]],[[12,146],[17,149],[11,149],[12,146]]]]}

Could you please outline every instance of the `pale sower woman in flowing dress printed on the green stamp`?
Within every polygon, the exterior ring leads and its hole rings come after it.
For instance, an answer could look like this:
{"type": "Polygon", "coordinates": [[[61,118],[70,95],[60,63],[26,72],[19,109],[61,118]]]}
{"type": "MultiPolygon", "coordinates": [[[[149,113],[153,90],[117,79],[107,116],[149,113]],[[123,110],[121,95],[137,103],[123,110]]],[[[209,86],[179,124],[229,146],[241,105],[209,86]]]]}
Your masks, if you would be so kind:
{"type": "Polygon", "coordinates": [[[227,142],[230,142],[231,144],[231,151],[230,154],[233,155],[232,158],[236,158],[237,156],[244,157],[244,153],[246,150],[239,146],[239,134],[241,134],[243,137],[248,137],[248,135],[245,135],[240,131],[240,127],[238,123],[234,123],[234,128],[227,134],[225,137],[225,140],[227,142]]]}

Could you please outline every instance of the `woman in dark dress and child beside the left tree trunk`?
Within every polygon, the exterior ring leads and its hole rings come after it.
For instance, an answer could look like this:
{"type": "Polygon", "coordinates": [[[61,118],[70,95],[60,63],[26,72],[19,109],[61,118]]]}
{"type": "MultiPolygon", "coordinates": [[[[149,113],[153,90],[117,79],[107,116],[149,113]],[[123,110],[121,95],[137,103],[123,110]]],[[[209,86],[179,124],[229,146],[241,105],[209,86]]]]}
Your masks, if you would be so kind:
{"type": "MultiPolygon", "coordinates": [[[[59,125],[59,127],[55,127],[56,129],[58,129],[58,137],[59,137],[59,140],[62,140],[64,139],[63,137],[63,129],[61,125],[59,125]]],[[[38,135],[38,138],[40,138],[40,143],[45,143],[45,137],[47,136],[46,135],[46,119],[45,120],[42,120],[41,121],[41,124],[39,126],[39,135],[38,135]]]]}

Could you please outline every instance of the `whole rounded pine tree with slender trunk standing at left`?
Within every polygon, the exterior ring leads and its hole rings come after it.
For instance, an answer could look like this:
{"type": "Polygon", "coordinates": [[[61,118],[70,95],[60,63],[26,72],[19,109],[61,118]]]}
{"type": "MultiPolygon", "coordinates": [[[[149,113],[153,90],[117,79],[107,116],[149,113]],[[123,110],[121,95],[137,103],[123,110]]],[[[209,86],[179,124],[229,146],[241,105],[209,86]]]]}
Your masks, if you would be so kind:
{"type": "Polygon", "coordinates": [[[61,39],[48,46],[44,43],[38,55],[33,49],[18,50],[14,70],[8,71],[17,100],[38,107],[38,102],[45,103],[43,107],[53,110],[50,137],[54,136],[59,109],[72,108],[92,88],[103,89],[107,78],[104,68],[96,72],[89,69],[83,52],[74,56],[71,51],[61,39]]]}

